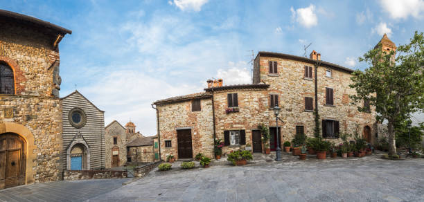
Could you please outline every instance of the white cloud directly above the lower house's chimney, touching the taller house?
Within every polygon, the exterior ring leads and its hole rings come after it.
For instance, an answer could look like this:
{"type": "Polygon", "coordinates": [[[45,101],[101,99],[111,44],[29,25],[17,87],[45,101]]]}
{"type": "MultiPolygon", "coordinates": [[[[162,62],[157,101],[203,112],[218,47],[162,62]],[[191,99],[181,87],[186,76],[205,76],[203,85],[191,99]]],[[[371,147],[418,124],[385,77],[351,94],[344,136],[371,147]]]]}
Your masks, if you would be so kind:
{"type": "Polygon", "coordinates": [[[218,69],[217,78],[222,78],[224,85],[251,84],[251,73],[246,62],[229,62],[228,68],[218,69]]]}

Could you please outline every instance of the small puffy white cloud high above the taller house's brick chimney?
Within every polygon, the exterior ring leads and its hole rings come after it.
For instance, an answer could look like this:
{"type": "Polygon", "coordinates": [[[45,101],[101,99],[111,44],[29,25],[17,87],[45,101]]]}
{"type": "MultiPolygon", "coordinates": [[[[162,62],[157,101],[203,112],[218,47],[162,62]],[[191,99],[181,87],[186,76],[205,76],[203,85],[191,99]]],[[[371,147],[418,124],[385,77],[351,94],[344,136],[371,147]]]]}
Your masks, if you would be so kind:
{"type": "Polygon", "coordinates": [[[297,10],[294,10],[292,7],[290,11],[292,12],[292,20],[296,20],[301,26],[310,28],[318,24],[318,18],[315,14],[315,6],[313,4],[310,4],[306,8],[298,8],[297,10]]]}

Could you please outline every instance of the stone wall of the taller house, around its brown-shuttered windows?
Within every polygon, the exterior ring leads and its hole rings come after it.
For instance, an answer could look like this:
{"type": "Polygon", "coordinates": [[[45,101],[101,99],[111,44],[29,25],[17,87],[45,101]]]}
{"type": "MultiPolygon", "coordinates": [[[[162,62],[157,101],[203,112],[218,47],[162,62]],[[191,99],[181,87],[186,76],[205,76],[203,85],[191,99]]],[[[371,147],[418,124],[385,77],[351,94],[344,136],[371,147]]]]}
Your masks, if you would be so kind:
{"type": "MultiPolygon", "coordinates": [[[[269,93],[279,95],[281,107],[279,117],[285,121],[281,129],[282,142],[293,138],[297,125],[303,125],[305,133],[313,136],[314,115],[312,111],[305,111],[304,98],[313,98],[315,108],[313,79],[315,75],[312,73],[312,79],[303,78],[304,66],[312,66],[312,71],[314,69],[314,65],[307,62],[277,57],[260,57],[260,80],[270,84],[269,93]],[[269,61],[278,63],[278,74],[269,74],[269,61]]],[[[321,119],[338,120],[340,132],[353,133],[357,130],[362,134],[365,126],[372,128],[376,122],[375,109],[371,107],[371,113],[359,112],[357,107],[362,106],[362,103],[351,104],[348,95],[353,95],[355,90],[348,86],[351,84],[350,77],[351,74],[345,71],[319,66],[317,72],[319,114],[321,119]],[[327,69],[332,71],[332,77],[326,77],[327,69]],[[326,87],[334,89],[334,107],[326,105],[326,87]]],[[[274,115],[270,116],[269,125],[276,125],[274,115]]],[[[371,131],[371,134],[375,134],[374,131],[371,131]]]]}

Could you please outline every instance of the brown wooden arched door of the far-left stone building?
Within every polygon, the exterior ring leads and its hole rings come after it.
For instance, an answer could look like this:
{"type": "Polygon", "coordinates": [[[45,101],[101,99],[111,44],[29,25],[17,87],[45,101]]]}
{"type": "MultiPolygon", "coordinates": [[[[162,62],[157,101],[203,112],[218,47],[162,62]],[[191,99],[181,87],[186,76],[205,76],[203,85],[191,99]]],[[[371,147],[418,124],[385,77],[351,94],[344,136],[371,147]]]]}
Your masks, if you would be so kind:
{"type": "Polygon", "coordinates": [[[17,134],[0,135],[0,189],[25,184],[26,143],[17,134]]]}

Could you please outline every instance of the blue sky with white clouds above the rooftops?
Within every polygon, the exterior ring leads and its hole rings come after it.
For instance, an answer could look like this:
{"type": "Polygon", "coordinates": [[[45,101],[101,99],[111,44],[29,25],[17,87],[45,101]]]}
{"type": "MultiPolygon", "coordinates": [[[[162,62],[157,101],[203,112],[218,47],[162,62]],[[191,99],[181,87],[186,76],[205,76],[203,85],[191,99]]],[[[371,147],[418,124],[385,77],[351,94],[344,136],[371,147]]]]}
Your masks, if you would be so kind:
{"type": "MultiPolygon", "coordinates": [[[[366,68],[357,57],[384,33],[398,44],[424,28],[424,1],[3,1],[0,8],[73,31],[60,43],[61,96],[77,89],[156,134],[155,100],[202,91],[206,80],[251,82],[251,50],[366,68]]],[[[419,118],[419,117],[418,117],[419,118]]],[[[422,121],[422,120],[421,120],[422,121]]]]}

